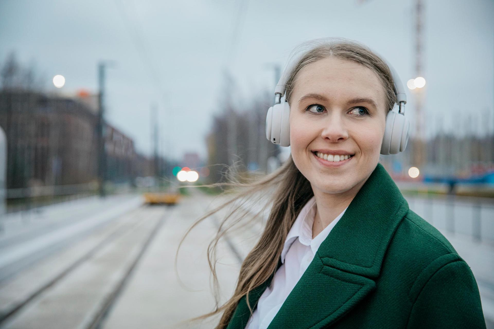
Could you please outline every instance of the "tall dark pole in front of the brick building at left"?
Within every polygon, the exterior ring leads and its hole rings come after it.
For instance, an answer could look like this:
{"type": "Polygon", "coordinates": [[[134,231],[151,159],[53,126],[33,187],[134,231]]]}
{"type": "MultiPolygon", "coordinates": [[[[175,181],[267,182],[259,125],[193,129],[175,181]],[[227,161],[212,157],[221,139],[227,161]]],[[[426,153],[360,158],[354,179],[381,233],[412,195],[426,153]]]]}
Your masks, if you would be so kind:
{"type": "Polygon", "coordinates": [[[104,119],[104,96],[105,96],[105,63],[98,64],[98,178],[99,196],[104,197],[106,181],[106,152],[105,152],[105,119],[104,119]]]}

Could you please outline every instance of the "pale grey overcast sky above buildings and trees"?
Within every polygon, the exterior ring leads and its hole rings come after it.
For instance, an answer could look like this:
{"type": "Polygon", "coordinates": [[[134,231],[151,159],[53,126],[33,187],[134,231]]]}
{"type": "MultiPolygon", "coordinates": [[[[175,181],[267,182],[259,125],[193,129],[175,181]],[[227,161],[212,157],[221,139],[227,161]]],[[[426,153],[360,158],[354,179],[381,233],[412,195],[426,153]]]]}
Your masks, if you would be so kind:
{"type": "MultiPolygon", "coordinates": [[[[274,90],[268,63],[285,65],[292,48],[317,37],[348,37],[383,55],[404,83],[414,72],[414,0],[0,0],[0,61],[15,51],[36,63],[48,90],[95,91],[100,60],[107,71],[107,119],[151,153],[150,107],[180,158],[206,156],[205,135],[221,109],[223,72],[245,101],[274,90]]],[[[423,0],[423,62],[428,128],[479,134],[494,129],[494,1],[423,0]],[[462,123],[463,122],[463,123],[462,123]],[[461,128],[458,126],[461,124],[461,128]]],[[[409,92],[406,114],[413,125],[409,92]]]]}

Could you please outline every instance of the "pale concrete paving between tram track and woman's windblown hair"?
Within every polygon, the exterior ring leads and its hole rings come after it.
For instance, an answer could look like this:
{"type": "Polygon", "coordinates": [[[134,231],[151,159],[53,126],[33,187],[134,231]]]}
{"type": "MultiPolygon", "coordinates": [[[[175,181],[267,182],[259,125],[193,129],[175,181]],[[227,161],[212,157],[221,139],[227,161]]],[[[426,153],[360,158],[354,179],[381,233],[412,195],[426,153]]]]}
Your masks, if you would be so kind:
{"type": "MultiPolygon", "coordinates": [[[[178,276],[174,268],[175,253],[185,230],[204,213],[209,202],[210,198],[196,195],[183,198],[179,206],[170,210],[104,321],[104,329],[210,329],[215,326],[219,317],[186,322],[214,308],[206,261],[207,244],[217,230],[212,219],[206,219],[192,230],[179,251],[178,276]]],[[[216,270],[224,302],[235,287],[241,263],[225,242],[218,246],[218,251],[216,270]]]]}

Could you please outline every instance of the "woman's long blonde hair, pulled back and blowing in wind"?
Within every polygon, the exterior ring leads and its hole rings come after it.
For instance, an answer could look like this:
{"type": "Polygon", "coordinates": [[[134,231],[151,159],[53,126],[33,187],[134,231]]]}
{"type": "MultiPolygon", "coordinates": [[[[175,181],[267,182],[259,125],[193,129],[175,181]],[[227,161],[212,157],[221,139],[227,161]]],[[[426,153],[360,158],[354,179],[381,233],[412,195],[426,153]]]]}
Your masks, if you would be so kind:
{"type": "MultiPolygon", "coordinates": [[[[290,102],[297,73],[310,63],[332,56],[359,63],[375,72],[386,92],[387,109],[391,110],[393,108],[396,102],[396,95],[393,91],[392,74],[386,63],[365,45],[343,38],[324,38],[303,43],[295,49],[295,52],[300,51],[302,51],[302,55],[299,55],[299,60],[292,67],[286,83],[286,98],[288,103],[290,102]]],[[[233,209],[229,210],[228,215],[220,223],[217,234],[207,249],[208,263],[213,277],[216,301],[215,308],[205,315],[191,319],[205,319],[223,312],[216,329],[224,329],[228,326],[240,299],[245,295],[247,295],[247,306],[252,312],[252,307],[248,301],[248,293],[260,286],[275,273],[288,231],[302,207],[314,195],[309,181],[297,169],[291,156],[288,157],[288,160],[278,170],[255,182],[220,184],[233,185],[238,188],[238,193],[233,198],[230,198],[229,201],[198,219],[186,231],[180,242],[181,245],[187,234],[201,221],[228,206],[234,205],[233,209]],[[217,293],[218,280],[215,271],[215,250],[218,241],[234,225],[241,221],[249,220],[247,213],[242,211],[246,200],[252,196],[259,198],[259,195],[262,195],[263,191],[268,190],[274,190],[275,192],[271,194],[272,196],[267,203],[271,205],[271,209],[264,230],[259,241],[242,263],[233,296],[223,305],[219,306],[217,293]]],[[[251,203],[252,199],[249,199],[249,202],[251,203]]],[[[180,245],[178,248],[180,248],[180,245]]]]}

